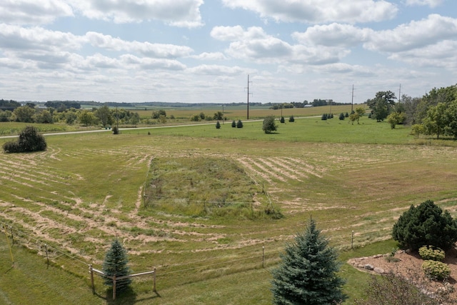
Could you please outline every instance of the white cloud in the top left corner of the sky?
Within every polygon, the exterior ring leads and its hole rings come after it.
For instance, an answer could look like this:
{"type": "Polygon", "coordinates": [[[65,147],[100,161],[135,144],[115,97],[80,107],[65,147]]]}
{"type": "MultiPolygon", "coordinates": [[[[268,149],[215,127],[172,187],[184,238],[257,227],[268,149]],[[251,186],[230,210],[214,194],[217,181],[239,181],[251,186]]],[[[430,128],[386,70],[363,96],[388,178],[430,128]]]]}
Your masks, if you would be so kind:
{"type": "Polygon", "coordinates": [[[0,20],[8,24],[49,24],[59,17],[73,16],[62,0],[2,0],[0,20]]]}

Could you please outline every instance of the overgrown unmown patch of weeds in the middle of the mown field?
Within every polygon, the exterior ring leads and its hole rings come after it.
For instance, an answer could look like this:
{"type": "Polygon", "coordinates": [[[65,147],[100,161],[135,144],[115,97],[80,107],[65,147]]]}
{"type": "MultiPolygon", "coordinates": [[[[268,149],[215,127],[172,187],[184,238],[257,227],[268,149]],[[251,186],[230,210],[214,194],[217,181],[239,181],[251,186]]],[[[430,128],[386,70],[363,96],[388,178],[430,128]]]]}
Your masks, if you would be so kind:
{"type": "Polygon", "coordinates": [[[154,159],[144,198],[151,211],[186,216],[256,219],[271,209],[261,186],[238,164],[216,157],[154,159]]]}

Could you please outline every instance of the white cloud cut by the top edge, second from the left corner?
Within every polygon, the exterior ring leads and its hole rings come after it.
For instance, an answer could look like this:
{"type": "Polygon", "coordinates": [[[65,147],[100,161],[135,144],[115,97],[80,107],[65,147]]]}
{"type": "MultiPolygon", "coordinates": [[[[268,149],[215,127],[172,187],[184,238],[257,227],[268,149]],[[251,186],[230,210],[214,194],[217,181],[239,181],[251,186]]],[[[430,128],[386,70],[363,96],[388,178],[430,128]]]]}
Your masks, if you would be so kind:
{"type": "Polygon", "coordinates": [[[117,24],[159,20],[172,26],[203,26],[200,6],[203,0],[69,0],[89,19],[117,24]]]}

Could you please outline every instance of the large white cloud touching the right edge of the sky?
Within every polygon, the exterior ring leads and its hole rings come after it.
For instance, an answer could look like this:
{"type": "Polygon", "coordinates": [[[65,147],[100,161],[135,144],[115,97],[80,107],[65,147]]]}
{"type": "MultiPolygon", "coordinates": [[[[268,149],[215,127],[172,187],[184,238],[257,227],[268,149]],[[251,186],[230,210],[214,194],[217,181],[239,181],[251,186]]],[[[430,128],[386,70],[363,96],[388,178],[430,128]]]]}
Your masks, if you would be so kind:
{"type": "Polygon", "coordinates": [[[371,51],[407,51],[446,39],[457,39],[457,19],[431,14],[427,19],[401,24],[393,30],[376,31],[363,44],[371,51]]]}

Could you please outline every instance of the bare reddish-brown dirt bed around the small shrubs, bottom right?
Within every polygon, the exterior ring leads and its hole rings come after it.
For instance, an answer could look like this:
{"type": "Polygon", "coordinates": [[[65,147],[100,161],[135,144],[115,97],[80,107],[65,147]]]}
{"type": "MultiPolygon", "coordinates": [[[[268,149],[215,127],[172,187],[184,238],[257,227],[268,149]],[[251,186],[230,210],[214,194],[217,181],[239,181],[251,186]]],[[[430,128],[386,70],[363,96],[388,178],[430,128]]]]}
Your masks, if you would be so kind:
{"type": "MultiPolygon", "coordinates": [[[[435,289],[435,291],[443,287],[443,282],[430,281],[423,275],[423,259],[421,259],[421,256],[419,256],[417,252],[408,253],[402,250],[397,251],[394,256],[396,261],[389,261],[389,255],[390,254],[378,254],[368,257],[359,257],[350,259],[348,264],[360,271],[366,271],[373,274],[387,274],[393,272],[393,274],[400,274],[405,278],[411,276],[411,274],[415,274],[420,276],[421,281],[428,281],[431,289],[435,289]]],[[[451,276],[447,280],[454,288],[451,299],[457,299],[457,249],[452,249],[446,253],[444,263],[448,264],[451,269],[451,276]]]]}

